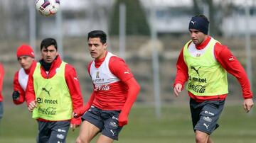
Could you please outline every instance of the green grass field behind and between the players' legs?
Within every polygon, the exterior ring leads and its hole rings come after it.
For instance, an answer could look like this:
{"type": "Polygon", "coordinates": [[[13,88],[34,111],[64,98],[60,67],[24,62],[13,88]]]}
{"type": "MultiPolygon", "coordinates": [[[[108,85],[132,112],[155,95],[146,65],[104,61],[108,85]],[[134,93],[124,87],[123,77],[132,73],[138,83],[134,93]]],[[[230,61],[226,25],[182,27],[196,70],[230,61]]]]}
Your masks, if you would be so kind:
{"type": "MultiPolygon", "coordinates": [[[[215,143],[256,142],[256,113],[253,110],[246,114],[242,105],[226,105],[219,121],[220,128],[212,135],[215,143]]],[[[78,132],[69,132],[68,143],[75,142],[78,132]]],[[[36,134],[36,120],[31,119],[24,105],[6,105],[0,126],[1,143],[36,142],[36,134]]],[[[155,118],[154,108],[135,105],[129,115],[129,125],[119,135],[119,142],[194,142],[188,105],[163,107],[160,119],[155,118]]]]}

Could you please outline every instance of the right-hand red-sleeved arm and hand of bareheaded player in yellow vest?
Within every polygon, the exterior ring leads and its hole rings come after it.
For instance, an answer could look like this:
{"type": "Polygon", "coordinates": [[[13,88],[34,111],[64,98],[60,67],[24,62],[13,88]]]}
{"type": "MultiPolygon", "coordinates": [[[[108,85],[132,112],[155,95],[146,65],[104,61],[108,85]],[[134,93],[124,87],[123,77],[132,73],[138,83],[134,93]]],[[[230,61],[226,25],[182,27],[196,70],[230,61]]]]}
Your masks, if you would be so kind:
{"type": "MultiPolygon", "coordinates": [[[[70,91],[73,110],[81,108],[83,104],[83,100],[82,100],[82,93],[80,90],[80,82],[78,80],[78,76],[76,74],[75,69],[70,64],[66,64],[65,66],[65,81],[70,91]]],[[[70,120],[70,127],[75,129],[75,127],[80,125],[80,123],[81,123],[80,118],[72,118],[70,120]]]]}

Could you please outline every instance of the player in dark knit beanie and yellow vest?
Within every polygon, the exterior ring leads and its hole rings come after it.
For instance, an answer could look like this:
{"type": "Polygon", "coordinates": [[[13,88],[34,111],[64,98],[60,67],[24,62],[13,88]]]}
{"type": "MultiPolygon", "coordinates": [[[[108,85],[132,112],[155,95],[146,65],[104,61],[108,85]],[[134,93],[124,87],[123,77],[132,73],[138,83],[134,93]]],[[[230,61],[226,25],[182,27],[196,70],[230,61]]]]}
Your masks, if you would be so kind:
{"type": "Polygon", "coordinates": [[[196,142],[211,143],[210,134],[219,126],[225,98],[228,96],[228,73],[242,87],[243,108],[252,108],[252,91],[245,69],[227,46],[208,35],[206,16],[193,16],[188,30],[191,40],[181,50],[176,63],[174,95],[178,96],[186,81],[190,96],[191,118],[196,142]]]}

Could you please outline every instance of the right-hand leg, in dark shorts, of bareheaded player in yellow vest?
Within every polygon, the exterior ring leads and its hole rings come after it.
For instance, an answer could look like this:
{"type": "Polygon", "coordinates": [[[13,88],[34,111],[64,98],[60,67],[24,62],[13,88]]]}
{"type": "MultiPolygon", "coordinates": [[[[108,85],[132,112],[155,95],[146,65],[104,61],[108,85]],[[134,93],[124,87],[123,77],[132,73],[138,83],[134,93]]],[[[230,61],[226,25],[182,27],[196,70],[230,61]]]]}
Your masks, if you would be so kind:
{"type": "Polygon", "coordinates": [[[70,121],[56,121],[50,122],[48,126],[51,130],[49,143],[65,142],[70,127],[70,121]]]}

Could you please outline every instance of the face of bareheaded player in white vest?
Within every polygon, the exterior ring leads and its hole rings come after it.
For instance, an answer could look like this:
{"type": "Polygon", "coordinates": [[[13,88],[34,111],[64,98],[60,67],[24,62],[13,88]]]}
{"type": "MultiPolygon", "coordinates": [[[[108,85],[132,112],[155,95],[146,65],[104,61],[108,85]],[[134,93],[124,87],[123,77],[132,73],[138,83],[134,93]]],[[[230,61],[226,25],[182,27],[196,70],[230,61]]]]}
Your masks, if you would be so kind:
{"type": "Polygon", "coordinates": [[[102,57],[105,57],[107,43],[102,44],[102,42],[100,42],[100,38],[89,38],[88,48],[92,58],[101,59],[102,57]]]}

